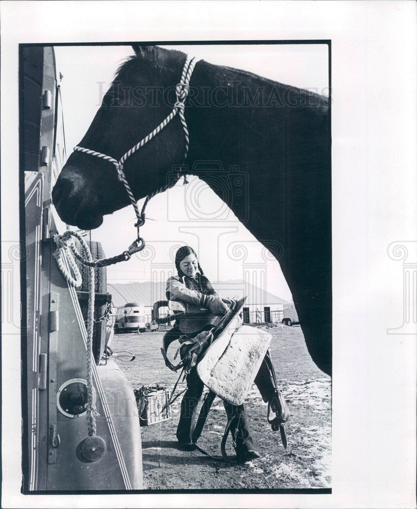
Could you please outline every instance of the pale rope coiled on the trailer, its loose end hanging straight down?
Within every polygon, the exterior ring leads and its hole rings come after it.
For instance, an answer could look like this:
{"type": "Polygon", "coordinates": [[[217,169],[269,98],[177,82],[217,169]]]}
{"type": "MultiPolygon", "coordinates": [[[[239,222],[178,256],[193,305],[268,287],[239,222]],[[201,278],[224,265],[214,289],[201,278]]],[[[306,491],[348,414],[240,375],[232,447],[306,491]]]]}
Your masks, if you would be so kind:
{"type": "MultiPolygon", "coordinates": [[[[75,247],[74,238],[71,238],[71,236],[77,238],[81,243],[81,247],[86,254],[87,261],[93,261],[90,247],[85,239],[78,232],[71,231],[67,231],[63,235],[55,235],[53,237],[53,240],[58,246],[57,251],[54,253],[54,257],[58,262],[58,267],[60,268],[62,274],[67,279],[69,284],[74,287],[78,287],[82,284],[82,278],[81,281],[79,281],[77,277],[74,278],[66,269],[63,270],[63,267],[65,266],[65,259],[68,262],[68,265],[71,267],[71,270],[74,271],[74,267],[76,267],[79,274],[79,269],[74,259],[74,256],[78,258],[79,254],[75,247]]],[[[96,415],[99,415],[93,400],[93,327],[95,298],[95,277],[93,266],[89,266],[88,276],[89,299],[87,309],[87,428],[89,437],[93,437],[97,432],[96,415]]]]}

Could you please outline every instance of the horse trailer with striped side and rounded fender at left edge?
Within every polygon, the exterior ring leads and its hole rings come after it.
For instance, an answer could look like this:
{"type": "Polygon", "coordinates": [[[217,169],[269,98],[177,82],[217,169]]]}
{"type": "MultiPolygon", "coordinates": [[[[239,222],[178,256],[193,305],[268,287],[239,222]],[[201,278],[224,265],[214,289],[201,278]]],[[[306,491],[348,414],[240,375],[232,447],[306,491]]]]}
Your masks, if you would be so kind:
{"type": "MultiPolygon", "coordinates": [[[[91,355],[86,278],[81,287],[71,286],[54,257],[54,236],[67,230],[51,203],[51,189],[66,161],[61,78],[52,47],[21,46],[22,492],[142,489],[134,392],[106,354],[113,330],[106,327],[111,295],[105,268],[94,269],[91,355]],[[90,379],[98,412],[93,430],[87,422],[90,379]]],[[[79,233],[88,238],[88,232],[79,233]]],[[[90,247],[93,257],[102,256],[98,243],[90,247]]]]}

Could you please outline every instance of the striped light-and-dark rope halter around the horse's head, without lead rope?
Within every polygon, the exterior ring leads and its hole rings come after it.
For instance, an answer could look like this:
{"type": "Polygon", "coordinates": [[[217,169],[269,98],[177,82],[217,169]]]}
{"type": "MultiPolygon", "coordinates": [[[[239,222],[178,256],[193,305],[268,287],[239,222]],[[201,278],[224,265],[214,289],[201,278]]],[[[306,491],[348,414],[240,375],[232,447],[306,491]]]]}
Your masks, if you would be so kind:
{"type": "MultiPolygon", "coordinates": [[[[129,254],[133,254],[134,252],[141,251],[145,247],[145,241],[142,237],[139,235],[139,228],[144,224],[145,222],[145,208],[148,204],[149,200],[152,198],[152,196],[155,196],[155,194],[158,194],[160,192],[165,191],[169,187],[172,187],[174,184],[165,184],[156,191],[154,191],[151,194],[148,194],[146,197],[145,203],[142,207],[142,211],[139,212],[139,209],[137,207],[136,200],[134,199],[132,190],[130,189],[130,186],[127,182],[126,175],[123,171],[123,164],[125,163],[126,159],[130,157],[132,154],[134,154],[138,149],[143,147],[146,143],[149,142],[151,138],[153,138],[156,134],[158,134],[159,131],[161,131],[171,120],[177,115],[177,113],[180,116],[181,124],[184,129],[184,135],[185,135],[185,154],[184,154],[184,160],[187,157],[188,154],[188,147],[189,147],[189,134],[188,134],[188,127],[187,123],[185,122],[184,117],[184,108],[185,108],[185,99],[187,98],[188,92],[189,92],[189,81],[191,78],[192,71],[194,70],[194,66],[196,65],[196,59],[188,58],[185,61],[184,68],[182,70],[181,75],[181,81],[177,84],[175,87],[175,94],[177,96],[177,102],[174,104],[173,110],[171,111],[170,115],[166,117],[152,132],[150,132],[147,136],[145,136],[139,143],[137,143],[134,147],[129,149],[119,161],[114,159],[113,157],[110,157],[106,154],[102,154],[101,152],[96,152],[95,150],[86,149],[84,147],[79,147],[78,145],[74,147],[74,151],[77,152],[84,152],[85,154],[89,154],[92,156],[99,157],[100,159],[104,159],[106,161],[112,162],[117,169],[117,174],[120,182],[122,182],[125,186],[126,192],[129,195],[130,202],[134,208],[137,222],[135,223],[135,227],[137,228],[137,238],[136,240],[129,246],[128,252],[129,254]]],[[[178,178],[179,178],[178,173],[178,178]]],[[[185,182],[184,182],[185,183],[185,182]]],[[[130,258],[130,256],[129,256],[130,258]]]]}

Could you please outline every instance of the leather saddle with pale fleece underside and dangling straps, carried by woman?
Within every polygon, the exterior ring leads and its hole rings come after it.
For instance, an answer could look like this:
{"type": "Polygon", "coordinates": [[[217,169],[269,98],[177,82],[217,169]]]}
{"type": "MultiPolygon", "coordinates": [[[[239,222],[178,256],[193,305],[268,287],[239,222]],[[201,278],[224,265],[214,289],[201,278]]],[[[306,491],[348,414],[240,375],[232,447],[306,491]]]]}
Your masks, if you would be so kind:
{"type": "MultiPolygon", "coordinates": [[[[219,317],[217,325],[209,331],[201,331],[193,337],[182,335],[179,330],[178,334],[165,334],[161,348],[166,366],[172,371],[178,371],[182,368],[182,372],[174,386],[172,395],[175,392],[182,373],[185,371],[187,374],[192,367],[196,365],[201,380],[209,388],[203,400],[197,421],[191,429],[190,440],[201,453],[216,460],[223,459],[227,461],[226,441],[230,428],[234,420],[238,422],[240,419],[241,405],[252,386],[263,359],[266,358],[265,354],[271,341],[271,335],[269,333],[259,329],[254,332],[252,327],[242,326],[242,322],[238,315],[245,300],[246,297],[234,302],[233,305],[230,306],[229,312],[223,317],[219,317]],[[181,346],[192,345],[187,348],[187,354],[183,356],[182,360],[177,365],[174,365],[166,354],[168,347],[175,340],[180,340],[181,346]],[[231,373],[239,373],[240,376],[231,377],[231,373]],[[237,409],[236,414],[229,419],[221,440],[222,457],[213,457],[196,444],[201,436],[210,407],[216,396],[235,405],[237,409]]],[[[184,315],[181,310],[178,310],[174,315],[159,318],[159,307],[167,305],[169,305],[167,301],[158,301],[155,303],[154,316],[158,323],[167,323],[184,315]]],[[[178,303],[175,303],[175,306],[177,307],[178,303]]],[[[209,312],[207,311],[207,313],[209,312]]],[[[202,314],[199,313],[199,317],[201,316],[202,314]]],[[[189,317],[191,317],[190,314],[187,315],[187,318],[189,317]]],[[[267,364],[272,383],[274,387],[276,387],[273,365],[271,362],[267,364]]],[[[175,401],[175,399],[176,398],[172,397],[170,403],[175,401]]],[[[281,432],[281,438],[285,448],[287,448],[287,438],[283,423],[287,421],[288,418],[288,407],[280,390],[276,388],[272,405],[268,404],[268,422],[271,424],[273,431],[279,430],[281,432]],[[276,415],[272,420],[269,419],[271,411],[276,415]]]]}

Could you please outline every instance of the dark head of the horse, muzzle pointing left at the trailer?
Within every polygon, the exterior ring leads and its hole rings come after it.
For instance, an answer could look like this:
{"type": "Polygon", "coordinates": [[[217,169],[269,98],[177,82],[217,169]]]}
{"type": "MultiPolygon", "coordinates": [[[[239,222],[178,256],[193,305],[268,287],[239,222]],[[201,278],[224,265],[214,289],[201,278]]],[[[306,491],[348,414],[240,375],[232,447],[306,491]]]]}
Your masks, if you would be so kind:
{"type": "MultiPolygon", "coordinates": [[[[186,61],[180,51],[152,46],[133,49],[135,55],[116,72],[79,143],[116,161],[170,114],[186,61]]],[[[136,200],[172,178],[173,164],[183,162],[184,147],[184,132],[176,115],[124,162],[123,171],[136,200]]],[[[52,201],[63,221],[86,230],[99,227],[103,215],[130,203],[115,164],[78,151],[63,167],[52,190],[52,201]]]]}

